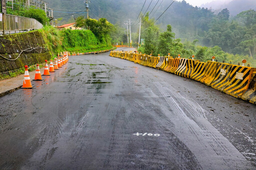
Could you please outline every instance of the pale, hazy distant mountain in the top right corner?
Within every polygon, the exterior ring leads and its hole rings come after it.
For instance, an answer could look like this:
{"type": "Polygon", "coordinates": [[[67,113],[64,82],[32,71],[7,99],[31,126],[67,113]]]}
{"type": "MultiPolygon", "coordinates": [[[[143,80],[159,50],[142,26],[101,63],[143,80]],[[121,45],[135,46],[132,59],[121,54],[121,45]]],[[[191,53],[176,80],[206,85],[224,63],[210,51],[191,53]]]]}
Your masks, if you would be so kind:
{"type": "Polygon", "coordinates": [[[244,10],[256,10],[256,0],[213,0],[209,3],[202,4],[200,7],[212,8],[216,10],[216,13],[227,8],[230,15],[235,16],[244,10]]]}

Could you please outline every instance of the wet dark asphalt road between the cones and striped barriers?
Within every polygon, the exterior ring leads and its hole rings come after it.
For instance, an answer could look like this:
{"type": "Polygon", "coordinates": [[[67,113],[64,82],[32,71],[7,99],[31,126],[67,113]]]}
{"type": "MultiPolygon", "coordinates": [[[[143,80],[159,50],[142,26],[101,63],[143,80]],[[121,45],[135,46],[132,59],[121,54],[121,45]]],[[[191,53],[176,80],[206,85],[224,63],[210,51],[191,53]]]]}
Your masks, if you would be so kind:
{"type": "Polygon", "coordinates": [[[108,54],[0,98],[0,169],[256,169],[255,105],[108,54]]]}

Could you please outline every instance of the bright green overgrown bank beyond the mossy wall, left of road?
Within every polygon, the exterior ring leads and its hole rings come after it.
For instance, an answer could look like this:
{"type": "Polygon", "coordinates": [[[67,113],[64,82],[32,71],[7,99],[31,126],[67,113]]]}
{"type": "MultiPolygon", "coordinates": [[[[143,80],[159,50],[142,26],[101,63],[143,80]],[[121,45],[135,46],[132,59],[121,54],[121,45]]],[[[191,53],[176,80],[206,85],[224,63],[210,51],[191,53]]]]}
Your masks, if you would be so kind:
{"type": "Polygon", "coordinates": [[[111,41],[108,34],[96,37],[89,29],[58,30],[53,26],[44,26],[41,30],[47,48],[54,54],[67,50],[74,52],[87,52],[111,49],[111,41]]]}

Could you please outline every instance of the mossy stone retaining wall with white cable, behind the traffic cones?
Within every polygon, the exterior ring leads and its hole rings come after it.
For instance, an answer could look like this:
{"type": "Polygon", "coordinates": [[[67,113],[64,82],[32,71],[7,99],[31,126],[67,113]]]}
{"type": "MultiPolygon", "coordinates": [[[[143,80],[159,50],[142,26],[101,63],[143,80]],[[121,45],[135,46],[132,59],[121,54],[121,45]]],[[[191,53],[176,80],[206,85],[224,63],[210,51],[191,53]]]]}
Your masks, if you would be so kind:
{"type": "Polygon", "coordinates": [[[29,66],[43,63],[45,59],[50,59],[52,54],[46,49],[41,33],[31,31],[0,36],[0,55],[0,74],[9,74],[10,71],[15,71],[24,67],[24,65],[29,66]],[[22,52],[15,61],[9,61],[3,58],[15,59],[22,50],[31,47],[39,48],[22,52]]]}

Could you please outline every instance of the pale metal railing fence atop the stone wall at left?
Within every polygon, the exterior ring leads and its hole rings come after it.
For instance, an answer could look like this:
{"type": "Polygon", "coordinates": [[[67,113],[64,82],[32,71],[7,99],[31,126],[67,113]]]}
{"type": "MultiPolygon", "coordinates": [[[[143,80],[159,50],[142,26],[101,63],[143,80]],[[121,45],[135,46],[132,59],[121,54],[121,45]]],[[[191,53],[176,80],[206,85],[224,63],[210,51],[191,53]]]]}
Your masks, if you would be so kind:
{"type": "Polygon", "coordinates": [[[34,18],[0,13],[0,33],[25,32],[41,29],[43,25],[34,18]]]}

